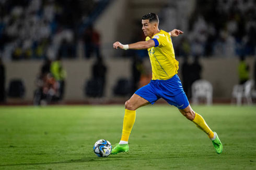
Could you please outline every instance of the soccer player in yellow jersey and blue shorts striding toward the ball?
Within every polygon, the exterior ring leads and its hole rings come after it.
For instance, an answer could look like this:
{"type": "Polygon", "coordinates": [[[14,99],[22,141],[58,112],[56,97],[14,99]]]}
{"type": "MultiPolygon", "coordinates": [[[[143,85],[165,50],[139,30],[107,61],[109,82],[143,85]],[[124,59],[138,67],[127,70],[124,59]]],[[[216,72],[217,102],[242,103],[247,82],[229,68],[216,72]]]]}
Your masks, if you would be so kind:
{"type": "Polygon", "coordinates": [[[165,32],[158,29],[159,19],[154,13],[142,17],[142,30],[146,41],[123,45],[115,42],[115,49],[147,49],[152,66],[152,80],[149,84],[139,88],[135,94],[125,102],[122,137],[112,154],[129,151],[128,139],[135,122],[136,109],[149,103],[154,104],[159,98],[176,106],[181,114],[203,130],[211,139],[218,154],[222,153],[223,146],[216,132],[206,124],[203,117],[190,107],[187,96],[177,75],[179,62],[175,59],[171,36],[179,36],[183,32],[177,29],[165,32]]]}

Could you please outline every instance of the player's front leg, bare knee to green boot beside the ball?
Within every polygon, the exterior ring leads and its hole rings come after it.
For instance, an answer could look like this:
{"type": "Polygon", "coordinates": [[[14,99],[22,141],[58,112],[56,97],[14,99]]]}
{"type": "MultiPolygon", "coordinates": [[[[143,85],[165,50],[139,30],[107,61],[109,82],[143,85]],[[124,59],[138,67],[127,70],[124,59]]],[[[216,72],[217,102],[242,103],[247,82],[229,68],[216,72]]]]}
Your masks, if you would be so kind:
{"type": "Polygon", "coordinates": [[[118,145],[113,148],[111,154],[129,151],[128,140],[135,122],[136,109],[145,106],[148,103],[149,102],[146,99],[136,94],[125,102],[122,137],[118,145]]]}

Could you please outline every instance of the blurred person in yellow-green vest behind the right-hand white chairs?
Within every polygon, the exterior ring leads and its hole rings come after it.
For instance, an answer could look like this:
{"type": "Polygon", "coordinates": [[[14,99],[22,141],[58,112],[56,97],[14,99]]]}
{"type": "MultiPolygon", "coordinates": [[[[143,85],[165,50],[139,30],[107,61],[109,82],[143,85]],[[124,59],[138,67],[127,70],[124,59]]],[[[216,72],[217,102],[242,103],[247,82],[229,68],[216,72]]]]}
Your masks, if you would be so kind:
{"type": "Polygon", "coordinates": [[[238,65],[238,76],[239,84],[243,84],[249,80],[249,66],[245,61],[245,56],[240,56],[240,61],[238,65]]]}

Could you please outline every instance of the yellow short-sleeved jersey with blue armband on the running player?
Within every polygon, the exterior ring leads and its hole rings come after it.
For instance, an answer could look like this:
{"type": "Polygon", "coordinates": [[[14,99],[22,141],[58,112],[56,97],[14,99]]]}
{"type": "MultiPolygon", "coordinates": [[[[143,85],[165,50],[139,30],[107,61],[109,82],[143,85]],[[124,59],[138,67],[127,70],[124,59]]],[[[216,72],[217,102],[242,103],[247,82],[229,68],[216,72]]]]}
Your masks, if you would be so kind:
{"type": "MultiPolygon", "coordinates": [[[[168,80],[178,73],[179,62],[175,59],[171,36],[160,30],[151,38],[155,46],[148,48],[148,55],[152,67],[152,80],[168,80]]],[[[146,37],[146,41],[150,37],[146,37]]]]}

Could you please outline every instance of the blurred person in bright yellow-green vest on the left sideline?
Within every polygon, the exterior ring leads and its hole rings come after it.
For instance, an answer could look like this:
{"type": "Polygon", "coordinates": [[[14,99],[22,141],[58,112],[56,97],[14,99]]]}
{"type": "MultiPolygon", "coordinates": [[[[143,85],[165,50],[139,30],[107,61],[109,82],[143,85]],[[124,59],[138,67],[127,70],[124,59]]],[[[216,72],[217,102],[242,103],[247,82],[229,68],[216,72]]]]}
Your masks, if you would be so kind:
{"type": "Polygon", "coordinates": [[[58,55],[57,59],[51,63],[50,70],[54,79],[59,83],[59,99],[62,100],[65,89],[66,71],[63,69],[60,55],[58,55]]]}

